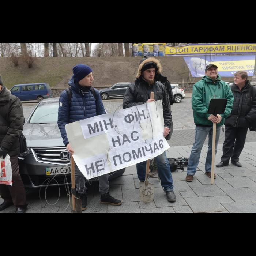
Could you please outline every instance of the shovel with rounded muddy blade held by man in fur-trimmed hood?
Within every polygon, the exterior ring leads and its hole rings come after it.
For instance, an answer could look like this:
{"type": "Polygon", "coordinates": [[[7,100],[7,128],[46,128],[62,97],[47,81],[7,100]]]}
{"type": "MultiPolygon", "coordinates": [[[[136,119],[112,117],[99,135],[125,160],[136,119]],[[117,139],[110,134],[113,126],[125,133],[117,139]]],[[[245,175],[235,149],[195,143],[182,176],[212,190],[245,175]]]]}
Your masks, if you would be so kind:
{"type": "MultiPolygon", "coordinates": [[[[151,99],[154,99],[154,93],[151,93],[151,99]]],[[[145,204],[150,203],[155,196],[155,184],[148,182],[149,167],[150,167],[150,160],[147,161],[145,182],[140,182],[139,184],[139,196],[142,202],[145,204]]]]}

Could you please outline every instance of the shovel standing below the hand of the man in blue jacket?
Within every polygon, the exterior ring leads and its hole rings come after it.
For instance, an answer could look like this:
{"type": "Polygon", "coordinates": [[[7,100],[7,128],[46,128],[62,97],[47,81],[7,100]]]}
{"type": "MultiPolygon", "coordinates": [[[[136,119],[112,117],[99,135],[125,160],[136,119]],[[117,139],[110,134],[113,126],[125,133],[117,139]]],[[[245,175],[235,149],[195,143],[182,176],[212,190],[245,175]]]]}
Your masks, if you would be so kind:
{"type": "Polygon", "coordinates": [[[71,193],[72,196],[70,197],[70,209],[71,213],[82,213],[82,200],[78,199],[78,195],[76,193],[76,182],[75,182],[75,161],[73,156],[70,157],[71,160],[71,193]]]}

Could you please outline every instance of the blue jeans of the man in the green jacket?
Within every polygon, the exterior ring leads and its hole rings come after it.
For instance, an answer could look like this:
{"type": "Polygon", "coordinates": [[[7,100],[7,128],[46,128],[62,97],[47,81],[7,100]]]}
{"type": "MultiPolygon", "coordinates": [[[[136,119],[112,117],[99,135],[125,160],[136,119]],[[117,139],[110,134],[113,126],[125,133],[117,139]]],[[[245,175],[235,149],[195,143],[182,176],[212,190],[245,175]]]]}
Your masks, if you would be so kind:
{"type": "MultiPolygon", "coordinates": [[[[212,131],[213,131],[213,127],[199,127],[199,126],[196,127],[195,143],[194,143],[194,146],[192,147],[192,151],[191,151],[189,162],[188,162],[188,170],[187,170],[188,175],[195,176],[196,174],[196,169],[199,164],[201,151],[208,134],[209,134],[209,143],[208,143],[209,147],[208,147],[208,152],[206,157],[205,170],[207,173],[211,172],[212,131]]],[[[215,157],[217,154],[217,147],[218,147],[220,135],[221,135],[221,126],[217,126],[215,157]]]]}

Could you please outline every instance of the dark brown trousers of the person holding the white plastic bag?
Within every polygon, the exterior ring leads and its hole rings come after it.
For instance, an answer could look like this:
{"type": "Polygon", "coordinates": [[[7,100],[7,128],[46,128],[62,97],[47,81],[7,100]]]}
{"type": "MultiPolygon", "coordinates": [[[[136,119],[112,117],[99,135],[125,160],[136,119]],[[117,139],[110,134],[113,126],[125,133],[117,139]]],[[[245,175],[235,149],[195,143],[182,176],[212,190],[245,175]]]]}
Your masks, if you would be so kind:
{"type": "Polygon", "coordinates": [[[14,203],[16,208],[27,207],[25,187],[19,174],[18,155],[10,157],[12,165],[12,186],[0,184],[0,195],[6,202],[14,203]]]}

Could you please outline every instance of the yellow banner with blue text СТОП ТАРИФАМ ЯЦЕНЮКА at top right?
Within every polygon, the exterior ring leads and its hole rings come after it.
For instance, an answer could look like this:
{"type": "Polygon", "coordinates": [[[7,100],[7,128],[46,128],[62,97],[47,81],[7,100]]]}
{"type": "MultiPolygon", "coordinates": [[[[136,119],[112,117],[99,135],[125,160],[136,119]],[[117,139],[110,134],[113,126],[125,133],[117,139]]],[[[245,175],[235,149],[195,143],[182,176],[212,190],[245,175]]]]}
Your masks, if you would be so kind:
{"type": "Polygon", "coordinates": [[[190,44],[166,45],[165,56],[209,55],[209,54],[255,54],[256,44],[190,44]]]}

